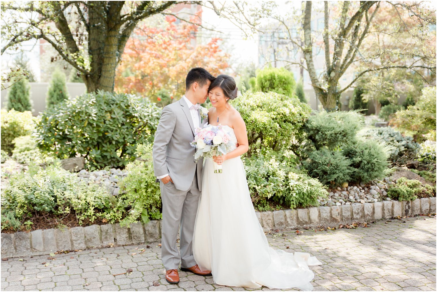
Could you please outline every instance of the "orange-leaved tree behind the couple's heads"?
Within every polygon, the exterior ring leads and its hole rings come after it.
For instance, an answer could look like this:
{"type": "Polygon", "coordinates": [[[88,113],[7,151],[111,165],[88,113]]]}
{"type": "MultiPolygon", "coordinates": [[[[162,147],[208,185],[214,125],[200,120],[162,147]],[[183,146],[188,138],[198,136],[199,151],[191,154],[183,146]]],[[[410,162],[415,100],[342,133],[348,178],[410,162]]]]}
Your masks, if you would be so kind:
{"type": "Polygon", "coordinates": [[[166,17],[166,27],[139,25],[129,38],[115,76],[115,91],[141,94],[161,105],[185,93],[185,77],[193,67],[216,76],[228,67],[229,54],[219,49],[219,38],[196,45],[198,27],[176,24],[166,17]]]}

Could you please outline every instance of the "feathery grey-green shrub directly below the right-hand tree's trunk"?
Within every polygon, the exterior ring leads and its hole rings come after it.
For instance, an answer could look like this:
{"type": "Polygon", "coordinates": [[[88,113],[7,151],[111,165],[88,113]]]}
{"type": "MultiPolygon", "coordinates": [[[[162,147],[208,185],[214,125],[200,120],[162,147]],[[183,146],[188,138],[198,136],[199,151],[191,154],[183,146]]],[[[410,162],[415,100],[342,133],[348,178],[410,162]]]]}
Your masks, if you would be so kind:
{"type": "Polygon", "coordinates": [[[356,111],[322,111],[311,115],[304,129],[316,149],[326,146],[333,150],[343,144],[354,144],[363,125],[364,118],[356,111]]]}

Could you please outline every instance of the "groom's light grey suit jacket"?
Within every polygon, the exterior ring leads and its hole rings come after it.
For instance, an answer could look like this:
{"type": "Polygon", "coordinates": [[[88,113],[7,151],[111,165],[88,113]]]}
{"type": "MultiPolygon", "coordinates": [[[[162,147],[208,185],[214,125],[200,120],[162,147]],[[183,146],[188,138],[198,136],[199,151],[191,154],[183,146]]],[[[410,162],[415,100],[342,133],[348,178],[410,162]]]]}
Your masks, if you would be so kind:
{"type": "MultiPolygon", "coordinates": [[[[199,109],[200,111],[200,109],[199,109]]],[[[201,122],[201,127],[207,122],[201,122]]],[[[190,143],[194,140],[194,125],[190,109],[183,99],[163,108],[153,142],[153,170],[155,176],[169,174],[175,188],[188,191],[193,183],[197,168],[199,191],[202,190],[203,160],[194,162],[196,149],[190,143]]]]}

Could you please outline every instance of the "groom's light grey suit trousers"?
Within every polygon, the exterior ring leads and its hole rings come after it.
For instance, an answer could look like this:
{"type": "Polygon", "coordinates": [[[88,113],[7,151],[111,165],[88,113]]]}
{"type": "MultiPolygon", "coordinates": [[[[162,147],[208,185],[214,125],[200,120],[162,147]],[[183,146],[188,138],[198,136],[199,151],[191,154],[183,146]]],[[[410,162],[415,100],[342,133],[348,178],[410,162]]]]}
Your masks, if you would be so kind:
{"type": "Polygon", "coordinates": [[[188,191],[180,191],[170,181],[160,182],[163,203],[161,258],[166,270],[190,268],[196,265],[193,256],[193,233],[200,191],[197,173],[188,191]],[[176,240],[180,224],[180,253],[176,240]]]}

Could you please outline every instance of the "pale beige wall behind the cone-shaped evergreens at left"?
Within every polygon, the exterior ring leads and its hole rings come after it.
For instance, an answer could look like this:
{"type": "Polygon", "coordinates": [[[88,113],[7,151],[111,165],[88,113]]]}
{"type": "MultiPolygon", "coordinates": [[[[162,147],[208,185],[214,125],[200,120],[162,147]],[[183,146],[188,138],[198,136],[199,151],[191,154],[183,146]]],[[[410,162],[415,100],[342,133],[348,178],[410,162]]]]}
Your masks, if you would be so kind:
{"type": "MultiPolygon", "coordinates": [[[[39,112],[45,110],[45,98],[47,96],[47,91],[49,90],[48,82],[30,82],[30,99],[33,104],[32,115],[37,116],[39,112]]],[[[5,83],[8,86],[8,83],[5,83]]],[[[70,97],[76,97],[87,92],[87,87],[85,83],[66,83],[67,90],[70,97]]],[[[7,107],[7,89],[1,90],[1,108],[7,107]]]]}

